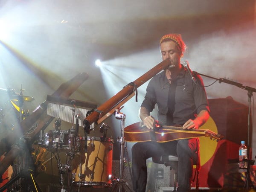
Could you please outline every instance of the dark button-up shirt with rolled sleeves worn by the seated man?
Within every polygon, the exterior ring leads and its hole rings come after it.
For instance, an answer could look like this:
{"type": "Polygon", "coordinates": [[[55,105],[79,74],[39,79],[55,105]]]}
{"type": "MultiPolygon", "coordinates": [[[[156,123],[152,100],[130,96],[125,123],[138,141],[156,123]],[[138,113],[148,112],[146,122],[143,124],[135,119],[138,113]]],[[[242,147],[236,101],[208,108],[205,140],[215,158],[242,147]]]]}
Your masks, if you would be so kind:
{"type": "MultiPolygon", "coordinates": [[[[182,66],[175,81],[175,108],[173,123],[183,125],[188,119],[195,119],[202,110],[209,111],[204,84],[199,75],[195,76],[197,84],[192,81],[189,72],[182,66]]],[[[165,71],[154,76],[148,83],[145,99],[141,107],[149,112],[153,111],[157,104],[157,118],[163,124],[167,122],[168,96],[170,84],[165,76],[165,71]]]]}

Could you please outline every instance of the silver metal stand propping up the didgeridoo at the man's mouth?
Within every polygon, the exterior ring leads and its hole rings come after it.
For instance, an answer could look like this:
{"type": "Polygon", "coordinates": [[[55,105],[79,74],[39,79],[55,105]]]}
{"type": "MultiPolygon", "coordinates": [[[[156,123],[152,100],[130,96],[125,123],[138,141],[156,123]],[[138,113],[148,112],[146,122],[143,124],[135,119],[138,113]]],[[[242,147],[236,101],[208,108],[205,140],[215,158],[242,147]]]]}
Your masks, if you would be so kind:
{"type": "Polygon", "coordinates": [[[120,113],[119,110],[115,112],[116,119],[122,120],[121,125],[121,138],[118,141],[120,143],[120,164],[119,164],[119,178],[113,181],[114,185],[111,189],[111,192],[134,192],[134,190],[128,185],[128,183],[122,179],[123,175],[123,163],[124,163],[124,150],[125,150],[125,138],[124,138],[124,129],[125,129],[125,114],[120,113]]]}

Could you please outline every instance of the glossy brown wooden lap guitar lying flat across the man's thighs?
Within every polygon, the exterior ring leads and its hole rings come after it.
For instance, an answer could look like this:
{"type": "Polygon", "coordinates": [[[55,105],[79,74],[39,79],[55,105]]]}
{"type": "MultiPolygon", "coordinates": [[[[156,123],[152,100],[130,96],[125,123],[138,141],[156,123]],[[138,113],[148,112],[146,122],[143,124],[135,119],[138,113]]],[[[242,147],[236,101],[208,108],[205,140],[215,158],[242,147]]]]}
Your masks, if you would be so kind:
{"type": "Polygon", "coordinates": [[[202,136],[209,137],[217,142],[224,138],[221,134],[217,134],[209,129],[183,130],[183,128],[178,126],[161,126],[157,129],[148,129],[145,125],[142,125],[142,122],[136,122],[125,127],[124,136],[127,142],[156,141],[158,143],[202,136]]]}

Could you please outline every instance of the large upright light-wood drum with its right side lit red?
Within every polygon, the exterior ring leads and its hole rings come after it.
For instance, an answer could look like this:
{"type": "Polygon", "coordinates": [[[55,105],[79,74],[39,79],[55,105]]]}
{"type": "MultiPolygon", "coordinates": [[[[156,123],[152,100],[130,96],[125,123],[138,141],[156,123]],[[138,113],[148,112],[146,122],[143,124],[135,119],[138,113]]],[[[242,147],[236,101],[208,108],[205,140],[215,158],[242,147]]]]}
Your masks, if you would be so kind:
{"type": "Polygon", "coordinates": [[[111,187],[113,142],[100,137],[80,138],[79,154],[74,159],[73,186],[111,187]],[[87,153],[84,146],[87,145],[87,153]]]}

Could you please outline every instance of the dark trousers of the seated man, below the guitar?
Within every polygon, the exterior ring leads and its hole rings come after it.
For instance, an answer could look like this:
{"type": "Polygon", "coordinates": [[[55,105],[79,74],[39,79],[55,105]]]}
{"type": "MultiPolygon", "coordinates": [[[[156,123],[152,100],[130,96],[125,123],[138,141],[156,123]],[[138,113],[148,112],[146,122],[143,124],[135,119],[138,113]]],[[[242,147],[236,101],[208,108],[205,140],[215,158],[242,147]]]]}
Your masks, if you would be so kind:
{"type": "Polygon", "coordinates": [[[198,150],[198,139],[183,139],[166,143],[152,141],[134,144],[132,154],[132,182],[135,192],[145,192],[147,182],[146,160],[150,157],[159,157],[170,154],[178,157],[178,185],[184,191],[190,189],[193,157],[198,150]]]}

